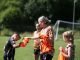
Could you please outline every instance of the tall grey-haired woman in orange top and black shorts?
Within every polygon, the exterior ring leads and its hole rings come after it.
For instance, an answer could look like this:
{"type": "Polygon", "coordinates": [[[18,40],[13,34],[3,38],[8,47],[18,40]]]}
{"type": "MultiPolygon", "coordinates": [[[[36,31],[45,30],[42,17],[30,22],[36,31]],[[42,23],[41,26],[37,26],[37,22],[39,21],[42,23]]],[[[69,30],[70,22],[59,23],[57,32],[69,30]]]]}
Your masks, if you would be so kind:
{"type": "Polygon", "coordinates": [[[49,25],[50,21],[47,17],[41,16],[38,19],[38,23],[42,28],[40,32],[40,54],[41,60],[52,60],[54,53],[54,32],[53,28],[49,25]]]}

